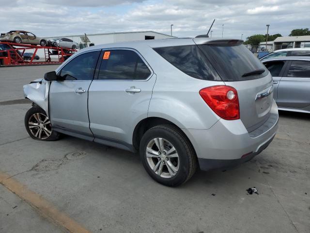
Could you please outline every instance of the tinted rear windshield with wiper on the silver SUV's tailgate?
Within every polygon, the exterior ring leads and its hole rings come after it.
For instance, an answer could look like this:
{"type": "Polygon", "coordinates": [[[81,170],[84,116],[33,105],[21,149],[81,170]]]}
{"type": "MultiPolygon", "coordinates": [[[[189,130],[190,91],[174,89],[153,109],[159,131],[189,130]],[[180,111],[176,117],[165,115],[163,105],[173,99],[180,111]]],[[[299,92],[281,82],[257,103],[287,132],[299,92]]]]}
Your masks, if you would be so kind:
{"type": "Polygon", "coordinates": [[[261,61],[244,45],[207,44],[198,45],[198,47],[216,68],[223,81],[259,79],[268,74],[268,70],[261,61]],[[262,69],[265,71],[261,74],[245,75],[262,69]]]}

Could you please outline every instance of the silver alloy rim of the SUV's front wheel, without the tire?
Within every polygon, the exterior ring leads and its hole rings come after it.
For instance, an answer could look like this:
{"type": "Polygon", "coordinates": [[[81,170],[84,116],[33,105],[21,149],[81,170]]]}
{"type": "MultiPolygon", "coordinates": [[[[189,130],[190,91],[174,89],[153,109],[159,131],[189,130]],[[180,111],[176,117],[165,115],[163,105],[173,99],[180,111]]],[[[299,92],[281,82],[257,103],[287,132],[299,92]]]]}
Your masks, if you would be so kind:
{"type": "Polygon", "coordinates": [[[28,121],[28,128],[38,139],[47,139],[52,133],[52,125],[48,117],[42,113],[32,114],[28,121]]]}

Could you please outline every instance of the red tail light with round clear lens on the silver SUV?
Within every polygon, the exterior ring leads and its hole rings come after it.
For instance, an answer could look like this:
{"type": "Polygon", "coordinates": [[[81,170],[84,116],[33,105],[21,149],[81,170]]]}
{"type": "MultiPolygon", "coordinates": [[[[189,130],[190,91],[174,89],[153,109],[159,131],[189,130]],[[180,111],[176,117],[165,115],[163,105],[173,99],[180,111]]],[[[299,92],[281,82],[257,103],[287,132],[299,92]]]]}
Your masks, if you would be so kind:
{"type": "Polygon", "coordinates": [[[240,119],[238,93],[232,86],[210,86],[201,89],[199,94],[221,118],[225,120],[240,119]]]}

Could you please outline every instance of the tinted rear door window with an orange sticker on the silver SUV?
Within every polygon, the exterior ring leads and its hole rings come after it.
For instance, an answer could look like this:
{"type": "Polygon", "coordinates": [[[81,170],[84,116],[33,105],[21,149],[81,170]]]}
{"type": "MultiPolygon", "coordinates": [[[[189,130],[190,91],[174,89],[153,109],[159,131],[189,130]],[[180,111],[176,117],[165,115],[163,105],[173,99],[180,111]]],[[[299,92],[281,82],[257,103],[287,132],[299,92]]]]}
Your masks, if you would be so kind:
{"type": "Polygon", "coordinates": [[[151,71],[132,50],[105,51],[99,68],[99,80],[144,80],[151,71]],[[107,55],[109,54],[109,55],[107,55]]]}

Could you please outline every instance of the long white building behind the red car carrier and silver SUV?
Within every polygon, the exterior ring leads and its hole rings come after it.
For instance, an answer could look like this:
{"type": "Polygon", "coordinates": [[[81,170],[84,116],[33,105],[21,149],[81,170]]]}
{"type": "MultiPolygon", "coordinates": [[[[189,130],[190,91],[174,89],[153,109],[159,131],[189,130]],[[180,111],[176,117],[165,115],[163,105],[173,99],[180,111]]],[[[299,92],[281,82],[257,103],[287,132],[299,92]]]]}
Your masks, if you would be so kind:
{"type": "MultiPolygon", "coordinates": [[[[115,33],[95,33],[95,34],[86,34],[88,38],[87,46],[91,43],[94,45],[108,44],[114,42],[123,42],[123,41],[135,41],[135,40],[148,40],[148,39],[167,39],[167,38],[177,38],[175,36],[167,35],[164,33],[157,33],[153,31],[141,31],[141,32],[115,32],[115,33]]],[[[56,35],[45,37],[47,39],[51,38],[60,38],[65,37],[69,38],[79,44],[79,48],[85,48],[85,34],[78,35],[56,35]]],[[[29,51],[30,52],[30,51],[29,51]]],[[[37,55],[41,58],[44,58],[44,51],[38,50],[37,55]]],[[[52,56],[57,57],[57,56],[52,56]]]]}

